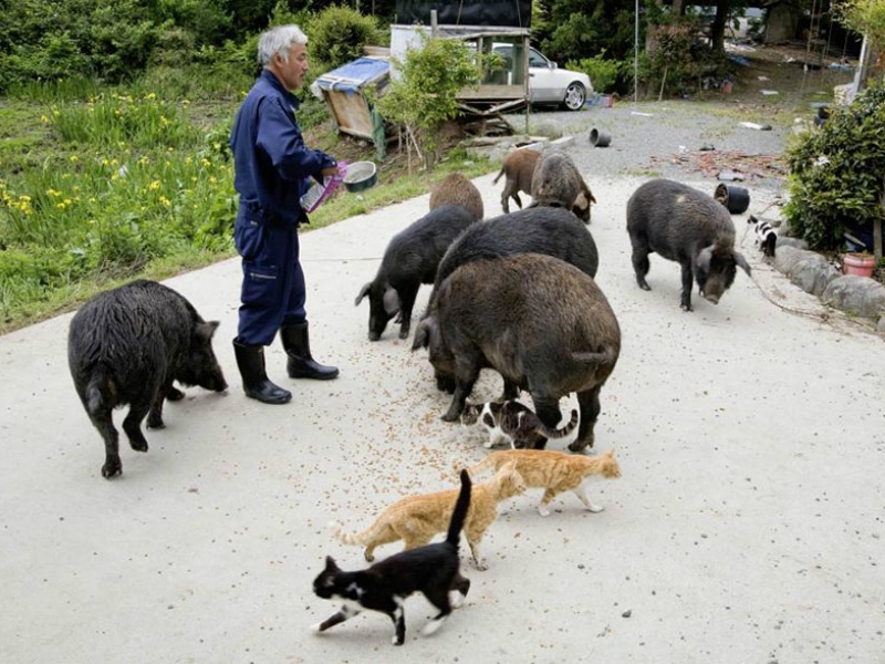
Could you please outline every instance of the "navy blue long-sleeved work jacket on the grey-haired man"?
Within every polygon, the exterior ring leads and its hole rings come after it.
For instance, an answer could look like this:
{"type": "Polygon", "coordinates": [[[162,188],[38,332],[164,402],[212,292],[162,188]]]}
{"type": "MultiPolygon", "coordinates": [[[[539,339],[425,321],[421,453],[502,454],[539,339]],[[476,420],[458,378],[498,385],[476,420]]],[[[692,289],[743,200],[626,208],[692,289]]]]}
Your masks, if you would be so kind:
{"type": "Polygon", "coordinates": [[[310,176],[319,178],[335,159],[304,145],[295,120],[299,104],[268,70],[246,95],[230,133],[238,217],[284,225],[306,220],[299,199],[310,187],[310,176]]]}

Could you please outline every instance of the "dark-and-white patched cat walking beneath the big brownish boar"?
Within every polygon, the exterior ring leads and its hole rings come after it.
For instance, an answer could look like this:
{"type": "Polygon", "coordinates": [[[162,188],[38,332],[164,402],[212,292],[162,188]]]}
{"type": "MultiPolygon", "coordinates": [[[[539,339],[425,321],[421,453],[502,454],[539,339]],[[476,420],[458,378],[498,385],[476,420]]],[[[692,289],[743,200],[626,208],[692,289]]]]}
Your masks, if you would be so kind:
{"type": "Polygon", "coordinates": [[[503,442],[513,449],[543,449],[548,438],[564,438],[574,430],[577,426],[577,411],[572,411],[572,418],[565,426],[554,429],[541,422],[529,406],[518,401],[467,404],[461,412],[461,424],[471,425],[477,422],[481,422],[489,432],[487,448],[503,442]]]}

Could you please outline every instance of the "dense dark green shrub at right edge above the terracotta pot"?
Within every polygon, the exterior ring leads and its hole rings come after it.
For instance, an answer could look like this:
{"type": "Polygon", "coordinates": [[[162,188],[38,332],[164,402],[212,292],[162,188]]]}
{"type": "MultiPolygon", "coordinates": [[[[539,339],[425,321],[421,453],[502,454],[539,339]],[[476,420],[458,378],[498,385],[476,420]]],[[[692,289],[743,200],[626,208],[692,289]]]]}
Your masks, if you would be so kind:
{"type": "Polygon", "coordinates": [[[788,147],[784,218],[815,249],[835,249],[848,225],[883,219],[885,87],[871,87],[788,147]]]}

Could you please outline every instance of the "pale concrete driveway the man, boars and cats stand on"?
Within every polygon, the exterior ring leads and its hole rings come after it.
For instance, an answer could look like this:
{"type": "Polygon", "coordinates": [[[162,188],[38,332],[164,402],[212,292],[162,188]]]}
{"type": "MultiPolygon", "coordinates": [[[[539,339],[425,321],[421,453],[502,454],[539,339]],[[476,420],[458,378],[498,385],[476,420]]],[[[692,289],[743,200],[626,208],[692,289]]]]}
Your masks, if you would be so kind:
{"type": "MultiPolygon", "coordinates": [[[[487,216],[491,178],[475,180],[487,216]]],[[[624,206],[641,180],[590,184],[623,331],[596,428],[623,470],[593,484],[605,511],[566,495],[542,518],[538,490],[503,505],[489,570],[462,548],[470,596],[433,636],[420,596],[403,647],[381,614],[310,631],[335,610],[311,590],[324,557],[364,566],[326,523],[365,528],[485,454],[483,432],[439,419],[426,353],[393,328],[369,343],[353,304],[424,196],[303,236],[314,354],[341,377],[289,382],[272,346],[287,406],[240,390],[238,261],[170,279],[221,321],[231,388],[169,404],[146,455],[122,445],[112,481],[67,372],[71,315],[0,338],[0,662],[885,662],[885,343],[762,263],[746,217],[753,280],[739,273],[718,307],[695,295],[680,311],[678,266],[656,256],[639,290],[624,206]]],[[[753,196],[749,212],[767,204],[753,196]]],[[[475,398],[499,390],[483,375],[475,398]]]]}

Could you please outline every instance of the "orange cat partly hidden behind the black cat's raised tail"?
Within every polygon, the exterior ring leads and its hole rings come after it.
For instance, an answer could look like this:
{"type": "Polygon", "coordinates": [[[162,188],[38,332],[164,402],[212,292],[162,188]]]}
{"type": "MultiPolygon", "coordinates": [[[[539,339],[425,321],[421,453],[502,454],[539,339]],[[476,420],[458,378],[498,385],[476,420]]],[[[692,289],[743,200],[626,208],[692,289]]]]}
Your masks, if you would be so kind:
{"type": "MultiPolygon", "coordinates": [[[[479,542],[498,517],[498,504],[525,490],[525,483],[517,471],[516,461],[501,464],[497,470],[488,481],[473,485],[470,509],[464,525],[467,543],[470,544],[473,561],[480,570],[488,566],[479,553],[479,542]]],[[[450,489],[400,498],[381,512],[375,522],[363,532],[344,532],[341,523],[335,521],[330,526],[345,544],[365,544],[365,558],[372,562],[375,559],[375,547],[402,539],[405,550],[414,549],[428,543],[437,532],[445,532],[457,497],[458,489],[450,489]]]]}

